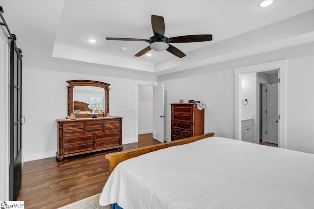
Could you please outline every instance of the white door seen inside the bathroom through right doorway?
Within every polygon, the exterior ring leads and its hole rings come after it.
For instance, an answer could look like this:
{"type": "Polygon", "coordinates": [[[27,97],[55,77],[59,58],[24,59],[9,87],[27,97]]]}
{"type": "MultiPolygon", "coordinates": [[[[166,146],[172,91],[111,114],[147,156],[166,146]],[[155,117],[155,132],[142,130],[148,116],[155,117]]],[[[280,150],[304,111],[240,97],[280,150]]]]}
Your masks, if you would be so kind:
{"type": "Polygon", "coordinates": [[[278,84],[266,84],[266,142],[278,144],[278,84]]]}

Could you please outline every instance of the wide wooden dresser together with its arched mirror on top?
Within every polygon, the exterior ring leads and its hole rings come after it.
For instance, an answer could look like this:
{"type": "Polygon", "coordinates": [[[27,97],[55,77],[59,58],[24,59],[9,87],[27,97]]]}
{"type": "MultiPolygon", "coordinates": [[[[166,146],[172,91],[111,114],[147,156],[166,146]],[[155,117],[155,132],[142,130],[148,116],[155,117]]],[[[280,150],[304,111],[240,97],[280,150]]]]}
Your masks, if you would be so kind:
{"type": "Polygon", "coordinates": [[[71,80],[68,119],[57,119],[56,157],[123,148],[122,117],[109,115],[109,86],[100,81],[71,80]]]}

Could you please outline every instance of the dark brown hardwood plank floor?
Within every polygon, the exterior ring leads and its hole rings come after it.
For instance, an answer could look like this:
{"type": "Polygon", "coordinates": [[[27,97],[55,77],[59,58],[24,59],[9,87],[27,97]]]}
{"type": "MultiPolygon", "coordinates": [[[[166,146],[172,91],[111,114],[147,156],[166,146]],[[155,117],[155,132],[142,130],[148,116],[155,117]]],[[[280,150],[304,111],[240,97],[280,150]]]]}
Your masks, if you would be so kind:
{"type": "MultiPolygon", "coordinates": [[[[123,150],[158,144],[153,134],[138,135],[138,142],[123,145],[123,150]]],[[[69,158],[55,157],[24,163],[18,201],[25,209],[57,209],[102,192],[109,176],[105,154],[118,149],[69,158]]]]}

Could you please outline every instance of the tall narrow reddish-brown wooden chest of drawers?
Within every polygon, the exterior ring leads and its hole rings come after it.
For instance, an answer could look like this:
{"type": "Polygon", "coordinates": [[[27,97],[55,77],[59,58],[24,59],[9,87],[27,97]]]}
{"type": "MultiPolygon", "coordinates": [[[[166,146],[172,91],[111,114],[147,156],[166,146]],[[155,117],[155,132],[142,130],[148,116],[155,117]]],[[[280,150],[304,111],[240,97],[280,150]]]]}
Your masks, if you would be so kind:
{"type": "Polygon", "coordinates": [[[204,134],[204,109],[194,103],[171,104],[171,140],[204,134]]]}

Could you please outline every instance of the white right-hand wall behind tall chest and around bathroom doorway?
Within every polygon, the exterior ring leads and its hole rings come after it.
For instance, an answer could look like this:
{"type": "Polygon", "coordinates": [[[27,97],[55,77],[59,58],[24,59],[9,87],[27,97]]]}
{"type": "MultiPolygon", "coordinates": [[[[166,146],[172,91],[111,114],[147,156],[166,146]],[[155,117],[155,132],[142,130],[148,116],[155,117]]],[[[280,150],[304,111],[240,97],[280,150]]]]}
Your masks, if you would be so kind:
{"type": "MultiPolygon", "coordinates": [[[[165,84],[167,95],[166,137],[171,135],[170,103],[177,103],[183,98],[184,101],[194,99],[206,103],[205,133],[214,132],[215,136],[235,139],[234,68],[273,61],[272,53],[275,52],[159,76],[157,83],[165,84]]],[[[287,148],[291,150],[314,153],[313,77],[313,52],[301,58],[289,57],[286,142],[287,148]]]]}

